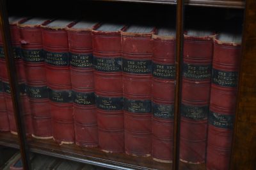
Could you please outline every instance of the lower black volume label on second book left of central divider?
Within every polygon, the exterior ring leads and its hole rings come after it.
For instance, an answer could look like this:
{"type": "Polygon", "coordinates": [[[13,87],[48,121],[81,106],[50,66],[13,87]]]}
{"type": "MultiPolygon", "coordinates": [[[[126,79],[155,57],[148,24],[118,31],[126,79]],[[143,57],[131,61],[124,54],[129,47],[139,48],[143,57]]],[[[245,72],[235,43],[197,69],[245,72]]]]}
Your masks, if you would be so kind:
{"type": "Polygon", "coordinates": [[[134,113],[151,112],[151,100],[131,100],[124,98],[124,110],[134,113]]]}

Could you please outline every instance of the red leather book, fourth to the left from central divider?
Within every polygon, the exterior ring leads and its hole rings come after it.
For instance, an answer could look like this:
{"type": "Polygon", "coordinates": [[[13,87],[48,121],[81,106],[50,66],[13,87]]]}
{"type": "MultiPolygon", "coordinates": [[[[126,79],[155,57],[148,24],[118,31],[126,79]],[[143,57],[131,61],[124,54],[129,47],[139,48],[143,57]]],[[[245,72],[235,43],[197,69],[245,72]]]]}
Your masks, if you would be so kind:
{"type": "Polygon", "coordinates": [[[95,22],[67,27],[76,144],[98,146],[98,127],[93,81],[92,28],[95,22]]]}

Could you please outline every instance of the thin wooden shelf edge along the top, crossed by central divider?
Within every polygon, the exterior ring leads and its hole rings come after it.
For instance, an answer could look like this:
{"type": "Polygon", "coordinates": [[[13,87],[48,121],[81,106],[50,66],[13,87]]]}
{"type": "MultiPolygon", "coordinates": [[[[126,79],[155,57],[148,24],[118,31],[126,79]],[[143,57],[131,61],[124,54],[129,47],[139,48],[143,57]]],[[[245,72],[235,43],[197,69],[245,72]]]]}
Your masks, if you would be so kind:
{"type": "MultiPolygon", "coordinates": [[[[176,4],[177,0],[97,0],[112,2],[131,3],[156,3],[156,4],[176,4]]],[[[244,0],[184,0],[185,4],[191,6],[212,6],[221,8],[244,8],[244,0]]]]}

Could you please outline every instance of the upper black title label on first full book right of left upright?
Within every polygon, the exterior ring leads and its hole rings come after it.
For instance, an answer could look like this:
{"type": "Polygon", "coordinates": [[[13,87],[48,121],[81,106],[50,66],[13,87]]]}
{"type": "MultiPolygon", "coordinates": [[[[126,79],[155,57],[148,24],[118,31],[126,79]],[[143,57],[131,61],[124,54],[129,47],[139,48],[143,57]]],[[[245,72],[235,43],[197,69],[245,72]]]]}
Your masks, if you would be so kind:
{"type": "Polygon", "coordinates": [[[40,50],[22,50],[23,59],[29,63],[40,63],[44,62],[44,52],[40,50]]]}

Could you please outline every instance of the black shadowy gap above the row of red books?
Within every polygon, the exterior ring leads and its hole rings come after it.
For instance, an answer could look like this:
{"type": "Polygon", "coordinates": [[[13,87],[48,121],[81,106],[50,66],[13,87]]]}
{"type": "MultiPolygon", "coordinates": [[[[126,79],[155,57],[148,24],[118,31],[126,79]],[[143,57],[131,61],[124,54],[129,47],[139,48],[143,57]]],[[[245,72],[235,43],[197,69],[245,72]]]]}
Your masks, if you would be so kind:
{"type": "MultiPolygon", "coordinates": [[[[7,1],[9,15],[29,17],[86,19],[99,22],[147,24],[175,27],[176,6],[111,1],[7,1]]],[[[228,8],[185,7],[185,29],[241,32],[243,10],[228,8]]]]}

